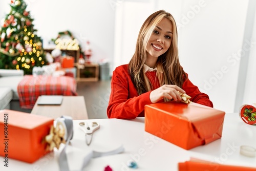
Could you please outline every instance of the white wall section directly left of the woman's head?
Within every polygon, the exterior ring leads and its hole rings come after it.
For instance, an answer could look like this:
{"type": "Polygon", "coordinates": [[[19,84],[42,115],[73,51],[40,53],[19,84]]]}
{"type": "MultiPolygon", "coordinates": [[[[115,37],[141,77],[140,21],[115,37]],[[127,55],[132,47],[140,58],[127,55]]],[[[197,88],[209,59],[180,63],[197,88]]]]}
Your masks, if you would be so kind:
{"type": "Polygon", "coordinates": [[[128,63],[134,54],[141,25],[154,12],[153,0],[121,1],[116,6],[115,48],[112,70],[128,63]]]}

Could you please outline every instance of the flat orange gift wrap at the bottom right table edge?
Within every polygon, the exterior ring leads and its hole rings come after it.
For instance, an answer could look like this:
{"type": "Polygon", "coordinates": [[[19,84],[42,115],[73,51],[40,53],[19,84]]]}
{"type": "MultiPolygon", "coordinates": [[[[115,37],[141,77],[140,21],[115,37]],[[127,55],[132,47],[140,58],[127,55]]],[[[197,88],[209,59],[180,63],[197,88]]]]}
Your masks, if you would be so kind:
{"type": "Polygon", "coordinates": [[[219,163],[208,162],[204,160],[192,159],[184,163],[178,163],[179,171],[252,171],[256,168],[245,167],[245,166],[234,166],[234,165],[225,165],[219,163]]]}

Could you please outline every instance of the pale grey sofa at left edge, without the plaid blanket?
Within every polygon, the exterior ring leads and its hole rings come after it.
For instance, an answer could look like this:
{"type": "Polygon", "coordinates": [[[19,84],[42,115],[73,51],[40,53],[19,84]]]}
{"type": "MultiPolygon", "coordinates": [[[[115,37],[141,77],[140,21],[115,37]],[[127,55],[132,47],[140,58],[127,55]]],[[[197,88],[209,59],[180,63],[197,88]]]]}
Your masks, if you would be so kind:
{"type": "Polygon", "coordinates": [[[30,110],[23,110],[19,107],[17,86],[23,77],[23,70],[0,69],[0,110],[30,112],[30,110]]]}

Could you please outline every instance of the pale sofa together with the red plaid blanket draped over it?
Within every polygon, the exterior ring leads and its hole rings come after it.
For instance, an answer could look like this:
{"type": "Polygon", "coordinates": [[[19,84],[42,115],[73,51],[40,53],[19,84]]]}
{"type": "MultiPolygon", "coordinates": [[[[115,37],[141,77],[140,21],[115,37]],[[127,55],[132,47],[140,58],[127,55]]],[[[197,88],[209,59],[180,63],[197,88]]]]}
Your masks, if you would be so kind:
{"type": "MultiPolygon", "coordinates": [[[[53,66],[46,67],[46,71],[54,68],[53,66]]],[[[44,77],[38,83],[35,80],[39,80],[41,74],[37,77],[36,73],[24,75],[23,70],[0,69],[0,110],[9,109],[31,113],[35,100],[39,95],[77,95],[76,80],[73,77],[66,76],[66,73],[62,70],[44,73],[43,75],[49,77],[44,77]],[[32,82],[34,83],[30,84],[32,82]],[[34,91],[35,89],[31,89],[31,85],[37,86],[39,89],[34,91]],[[26,95],[29,95],[29,98],[26,95]]]]}

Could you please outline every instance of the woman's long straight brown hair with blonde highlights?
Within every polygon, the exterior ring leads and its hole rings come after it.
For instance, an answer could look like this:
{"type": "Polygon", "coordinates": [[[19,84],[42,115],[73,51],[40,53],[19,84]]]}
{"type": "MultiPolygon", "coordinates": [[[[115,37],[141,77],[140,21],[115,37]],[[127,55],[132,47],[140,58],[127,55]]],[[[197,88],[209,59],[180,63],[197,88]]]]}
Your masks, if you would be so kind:
{"type": "MultiPolygon", "coordinates": [[[[129,62],[129,72],[139,95],[152,90],[152,85],[143,72],[143,65],[147,56],[146,45],[155,27],[163,18],[169,19],[173,25],[173,39],[169,49],[157,59],[156,74],[160,86],[163,84],[175,84],[182,87],[186,78],[178,57],[178,35],[175,19],[164,10],[157,11],[147,17],[143,23],[137,38],[135,53],[129,62]]],[[[165,101],[168,100],[165,99],[165,101]]]]}

